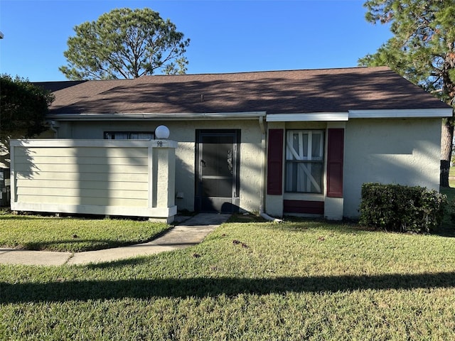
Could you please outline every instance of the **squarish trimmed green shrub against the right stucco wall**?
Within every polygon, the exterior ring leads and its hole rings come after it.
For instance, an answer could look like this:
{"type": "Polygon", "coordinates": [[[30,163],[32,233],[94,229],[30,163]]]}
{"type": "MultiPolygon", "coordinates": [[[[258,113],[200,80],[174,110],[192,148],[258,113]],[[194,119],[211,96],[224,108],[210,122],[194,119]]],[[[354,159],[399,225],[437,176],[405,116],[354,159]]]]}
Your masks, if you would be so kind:
{"type": "Polygon", "coordinates": [[[446,195],[404,185],[364,183],[360,224],[387,231],[431,232],[444,217],[446,195]]]}

